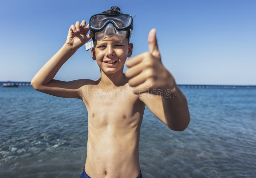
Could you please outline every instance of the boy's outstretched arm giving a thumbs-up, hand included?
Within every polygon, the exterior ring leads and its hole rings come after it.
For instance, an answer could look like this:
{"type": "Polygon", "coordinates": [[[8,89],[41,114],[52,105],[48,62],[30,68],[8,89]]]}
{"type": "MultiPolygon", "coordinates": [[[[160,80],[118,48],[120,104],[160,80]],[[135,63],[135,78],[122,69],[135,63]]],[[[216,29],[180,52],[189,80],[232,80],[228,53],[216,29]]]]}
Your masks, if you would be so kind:
{"type": "Polygon", "coordinates": [[[149,52],[126,61],[130,69],[125,76],[135,87],[134,93],[158,119],[172,130],[183,131],[190,122],[187,99],[161,62],[155,29],[148,34],[148,47],[149,52]]]}

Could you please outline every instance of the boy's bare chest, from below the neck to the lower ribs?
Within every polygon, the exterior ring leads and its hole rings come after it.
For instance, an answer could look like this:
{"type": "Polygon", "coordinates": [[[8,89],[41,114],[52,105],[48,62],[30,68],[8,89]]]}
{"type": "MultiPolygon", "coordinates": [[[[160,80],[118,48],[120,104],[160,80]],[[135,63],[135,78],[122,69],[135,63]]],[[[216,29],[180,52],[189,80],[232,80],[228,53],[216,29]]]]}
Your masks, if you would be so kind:
{"type": "Polygon", "coordinates": [[[145,109],[145,104],[128,87],[104,91],[89,86],[83,101],[88,111],[88,124],[94,128],[132,127],[142,120],[145,109]]]}

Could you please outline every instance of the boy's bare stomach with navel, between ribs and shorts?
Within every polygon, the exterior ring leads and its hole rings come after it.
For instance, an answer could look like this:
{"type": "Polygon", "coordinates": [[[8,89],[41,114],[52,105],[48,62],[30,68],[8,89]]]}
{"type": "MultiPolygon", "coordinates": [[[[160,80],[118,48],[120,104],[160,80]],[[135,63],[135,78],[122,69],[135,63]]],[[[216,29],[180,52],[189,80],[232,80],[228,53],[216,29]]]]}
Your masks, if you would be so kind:
{"type": "Polygon", "coordinates": [[[109,177],[124,177],[131,173],[136,177],[140,171],[139,138],[140,131],[137,129],[120,131],[106,127],[101,130],[89,130],[86,173],[93,177],[104,174],[106,177],[106,173],[109,177]]]}

